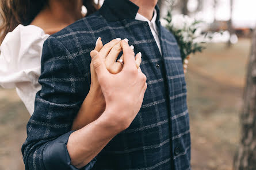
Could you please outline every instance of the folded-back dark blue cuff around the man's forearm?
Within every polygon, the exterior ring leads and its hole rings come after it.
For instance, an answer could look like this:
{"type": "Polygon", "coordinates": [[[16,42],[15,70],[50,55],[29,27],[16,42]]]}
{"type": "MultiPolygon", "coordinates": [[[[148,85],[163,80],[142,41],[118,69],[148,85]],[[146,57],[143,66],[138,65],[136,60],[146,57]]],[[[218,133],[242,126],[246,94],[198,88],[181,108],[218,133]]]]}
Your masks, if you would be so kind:
{"type": "MultiPolygon", "coordinates": [[[[74,131],[65,133],[64,135],[58,137],[57,139],[50,141],[43,151],[43,162],[47,170],[79,170],[71,165],[70,155],[67,151],[67,141],[68,137],[74,131]]],[[[85,167],[80,170],[90,170],[93,168],[96,159],[90,161],[85,167]]]]}

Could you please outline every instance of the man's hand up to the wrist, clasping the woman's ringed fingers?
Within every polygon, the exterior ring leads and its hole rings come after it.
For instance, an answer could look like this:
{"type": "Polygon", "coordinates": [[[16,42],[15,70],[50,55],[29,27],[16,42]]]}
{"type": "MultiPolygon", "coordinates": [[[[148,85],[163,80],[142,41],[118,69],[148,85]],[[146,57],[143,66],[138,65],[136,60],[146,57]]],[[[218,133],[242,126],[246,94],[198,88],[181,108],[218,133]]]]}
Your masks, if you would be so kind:
{"type": "Polygon", "coordinates": [[[125,41],[121,41],[120,45],[124,52],[124,68],[117,74],[110,73],[104,62],[112,57],[111,52],[106,57],[96,50],[91,52],[93,66],[106,101],[101,121],[114,131],[128,128],[142,106],[147,89],[147,78],[140,68],[136,68],[133,50],[125,41]]]}

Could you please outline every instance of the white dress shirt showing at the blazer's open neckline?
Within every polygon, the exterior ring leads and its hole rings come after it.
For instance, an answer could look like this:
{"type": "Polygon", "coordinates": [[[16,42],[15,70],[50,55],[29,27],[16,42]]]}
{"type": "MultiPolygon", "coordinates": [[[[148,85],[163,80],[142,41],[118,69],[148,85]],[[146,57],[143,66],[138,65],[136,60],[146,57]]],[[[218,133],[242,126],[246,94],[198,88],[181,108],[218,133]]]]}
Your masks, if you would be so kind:
{"type": "Polygon", "coordinates": [[[161,44],[160,44],[160,39],[159,39],[159,31],[158,31],[158,26],[156,25],[156,17],[157,17],[157,13],[156,13],[156,10],[154,10],[154,15],[153,15],[151,21],[139,13],[136,14],[135,19],[148,22],[148,25],[150,26],[151,33],[155,38],[156,45],[158,46],[158,49],[162,55],[161,44]]]}

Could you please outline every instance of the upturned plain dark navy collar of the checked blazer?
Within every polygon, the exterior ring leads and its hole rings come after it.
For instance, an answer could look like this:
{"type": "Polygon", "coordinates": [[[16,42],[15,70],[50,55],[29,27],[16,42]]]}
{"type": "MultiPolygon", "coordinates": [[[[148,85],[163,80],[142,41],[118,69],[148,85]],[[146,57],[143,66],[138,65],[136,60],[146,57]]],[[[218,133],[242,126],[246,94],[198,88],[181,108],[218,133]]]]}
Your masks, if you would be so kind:
{"type": "MultiPolygon", "coordinates": [[[[156,5],[156,20],[159,19],[159,8],[156,5]]],[[[99,12],[107,21],[135,19],[139,6],[129,0],[105,0],[99,12]]]]}

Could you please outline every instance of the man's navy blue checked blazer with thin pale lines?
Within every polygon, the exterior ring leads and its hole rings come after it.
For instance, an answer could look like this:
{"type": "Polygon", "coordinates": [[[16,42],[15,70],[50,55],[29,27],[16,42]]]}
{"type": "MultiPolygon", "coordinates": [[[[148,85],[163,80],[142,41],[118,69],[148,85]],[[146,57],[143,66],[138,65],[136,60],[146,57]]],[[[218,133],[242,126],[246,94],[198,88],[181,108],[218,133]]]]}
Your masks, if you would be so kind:
{"type": "Polygon", "coordinates": [[[179,48],[158,18],[161,55],[148,23],[135,20],[138,9],[128,0],[105,0],[99,11],[45,41],[42,89],[22,146],[26,170],[77,169],[70,164],[66,144],[90,89],[90,51],[98,37],[104,44],[114,38],[129,39],[135,53],[142,53],[140,67],[148,88],[131,126],[82,169],[190,169],[189,115],[179,48]]]}

